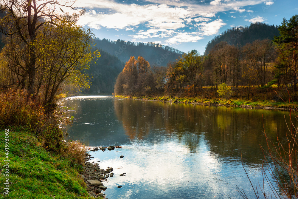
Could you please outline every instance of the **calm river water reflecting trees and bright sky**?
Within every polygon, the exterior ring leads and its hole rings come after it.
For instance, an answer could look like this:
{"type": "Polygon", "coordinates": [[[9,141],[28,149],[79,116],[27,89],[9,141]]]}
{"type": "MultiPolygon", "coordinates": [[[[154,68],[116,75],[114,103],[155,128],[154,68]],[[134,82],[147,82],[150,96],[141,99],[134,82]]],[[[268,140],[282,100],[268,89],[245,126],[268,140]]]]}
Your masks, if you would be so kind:
{"type": "MultiPolygon", "coordinates": [[[[243,166],[254,186],[262,183],[263,132],[276,142],[277,133],[282,140],[288,131],[289,114],[280,110],[113,96],[70,97],[61,103],[72,107],[74,117],[65,127],[68,140],[122,146],[90,152],[101,169],[114,168],[114,177],[104,183],[110,199],[241,198],[237,186],[255,198],[243,166]]],[[[266,184],[265,190],[271,194],[266,184]]]]}

